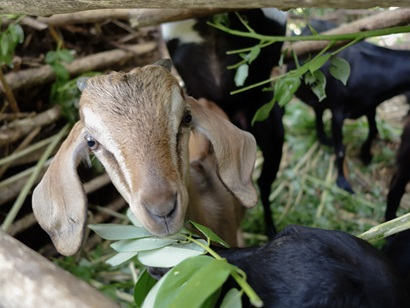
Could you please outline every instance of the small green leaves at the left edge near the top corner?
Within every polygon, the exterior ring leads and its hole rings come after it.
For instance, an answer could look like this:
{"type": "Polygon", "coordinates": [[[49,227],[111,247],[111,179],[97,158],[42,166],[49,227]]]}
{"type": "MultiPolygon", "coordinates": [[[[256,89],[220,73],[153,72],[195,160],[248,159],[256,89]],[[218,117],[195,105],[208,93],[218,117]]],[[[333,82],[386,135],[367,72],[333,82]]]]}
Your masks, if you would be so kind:
{"type": "MultiPolygon", "coordinates": [[[[3,18],[0,17],[0,25],[3,18]]],[[[24,31],[17,22],[11,22],[4,31],[0,32],[0,66],[13,67],[14,51],[17,44],[21,44],[23,40],[24,31]]]]}

